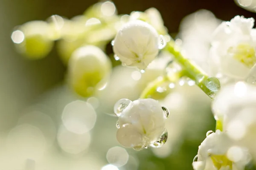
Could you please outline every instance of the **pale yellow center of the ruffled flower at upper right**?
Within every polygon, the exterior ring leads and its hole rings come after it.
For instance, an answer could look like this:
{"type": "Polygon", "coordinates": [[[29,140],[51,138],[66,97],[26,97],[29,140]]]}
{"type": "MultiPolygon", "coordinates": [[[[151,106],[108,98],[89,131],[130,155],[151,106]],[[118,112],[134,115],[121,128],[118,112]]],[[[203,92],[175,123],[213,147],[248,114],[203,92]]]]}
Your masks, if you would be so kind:
{"type": "Polygon", "coordinates": [[[256,63],[255,50],[250,44],[241,43],[236,47],[230,47],[228,53],[248,68],[252,68],[256,63]]]}

